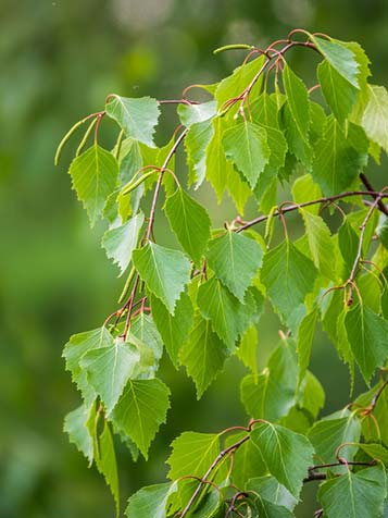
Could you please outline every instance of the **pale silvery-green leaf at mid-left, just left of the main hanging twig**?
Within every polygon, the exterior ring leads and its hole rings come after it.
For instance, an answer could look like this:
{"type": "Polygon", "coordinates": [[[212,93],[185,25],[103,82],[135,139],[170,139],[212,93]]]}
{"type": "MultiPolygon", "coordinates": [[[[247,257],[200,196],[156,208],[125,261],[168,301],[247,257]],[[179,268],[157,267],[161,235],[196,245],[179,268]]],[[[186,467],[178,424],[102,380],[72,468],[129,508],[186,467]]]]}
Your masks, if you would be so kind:
{"type": "Polygon", "coordinates": [[[137,239],[145,221],[145,215],[139,212],[121,226],[108,230],[102,237],[102,246],[107,256],[118,264],[121,275],[127,269],[132,252],[137,246],[137,239]]]}

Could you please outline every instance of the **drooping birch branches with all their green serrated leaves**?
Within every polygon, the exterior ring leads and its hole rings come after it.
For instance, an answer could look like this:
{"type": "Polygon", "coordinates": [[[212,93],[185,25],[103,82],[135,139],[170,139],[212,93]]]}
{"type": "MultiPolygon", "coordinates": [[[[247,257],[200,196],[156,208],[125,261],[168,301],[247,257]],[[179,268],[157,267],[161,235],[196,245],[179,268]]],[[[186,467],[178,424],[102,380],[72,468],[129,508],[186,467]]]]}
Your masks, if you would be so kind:
{"type": "Polygon", "coordinates": [[[65,430],[105,478],[118,515],[113,434],[134,457],[147,458],[170,407],[170,390],[158,378],[163,348],[174,367],[186,368],[198,397],[236,355],[250,370],[241,380],[248,424],[184,432],[167,460],[171,482],[130,496],[126,516],[292,517],[303,484],[317,480],[316,516],[383,517],[388,194],[374,190],[365,174],[371,160],[388,152],[388,94],[368,84],[368,59],[354,42],[297,30],[264,51],[248,50],[230,76],[199,86],[211,100],[110,95],[105,109],[77,123],[59,147],[57,159],[89,123],[70,166],[73,188],[91,226],[108,221],[102,245],[127,273],[122,306],[65,346],[83,399],[65,430]],[[287,62],[298,47],[321,57],[318,84],[310,89],[287,62]],[[158,148],[162,103],[178,104],[180,124],[158,148]],[[118,125],[113,150],[99,141],[105,118],[118,125]],[[178,148],[186,151],[188,188],[185,168],[175,166],[178,148]],[[240,214],[223,229],[212,229],[195,199],[205,181],[218,201],[227,190],[240,214]],[[287,185],[293,201],[280,202],[287,185]],[[162,197],[176,248],[154,233],[162,197]],[[248,200],[262,213],[243,221],[248,200]],[[303,229],[296,240],[286,222],[292,211],[303,229]],[[273,244],[277,220],[284,237],[273,244]],[[258,372],[256,328],[266,300],[283,329],[258,372]],[[325,395],[309,370],[318,322],[351,378],[356,366],[368,387],[323,418],[325,395]]]}

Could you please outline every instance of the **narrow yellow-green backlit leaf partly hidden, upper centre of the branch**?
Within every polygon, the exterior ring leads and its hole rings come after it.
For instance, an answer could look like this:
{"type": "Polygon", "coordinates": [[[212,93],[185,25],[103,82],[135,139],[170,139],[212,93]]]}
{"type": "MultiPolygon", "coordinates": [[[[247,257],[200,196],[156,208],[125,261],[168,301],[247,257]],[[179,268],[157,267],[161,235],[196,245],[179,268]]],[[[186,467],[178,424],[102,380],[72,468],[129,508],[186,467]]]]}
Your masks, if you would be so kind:
{"type": "Polygon", "coordinates": [[[217,195],[218,203],[222,200],[227,177],[233,169],[230,162],[226,160],[225,150],[223,146],[223,134],[225,130],[225,122],[223,118],[215,118],[213,120],[213,136],[206,147],[205,151],[205,176],[212,184],[215,194],[217,195]]]}

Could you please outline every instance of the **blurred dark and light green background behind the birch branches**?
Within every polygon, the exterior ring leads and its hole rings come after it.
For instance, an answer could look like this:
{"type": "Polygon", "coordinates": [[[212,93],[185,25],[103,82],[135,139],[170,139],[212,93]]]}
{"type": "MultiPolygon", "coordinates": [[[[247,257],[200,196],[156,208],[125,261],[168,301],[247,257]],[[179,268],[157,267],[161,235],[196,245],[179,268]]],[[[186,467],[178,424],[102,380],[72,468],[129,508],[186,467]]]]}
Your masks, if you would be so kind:
{"type": "MultiPolygon", "coordinates": [[[[58,141],[76,120],[100,110],[109,92],[179,97],[188,84],[223,77],[243,55],[214,57],[214,48],[265,46],[299,26],[358,40],[372,59],[374,82],[387,85],[388,2],[0,0],[0,517],[113,517],[102,478],[62,432],[78,396],[61,353],[71,334],[101,325],[115,309],[121,283],[100,247],[103,229],[90,232],[71,192],[71,150],[53,166],[58,141]]],[[[292,60],[314,84],[309,58],[302,50],[292,60]]],[[[175,108],[163,112],[165,127],[173,127],[175,108]]],[[[213,219],[233,217],[230,208],[214,206],[213,219]]],[[[263,362],[277,342],[276,319],[265,314],[259,332],[263,362]]],[[[329,391],[325,414],[348,402],[347,369],[323,335],[312,370],[329,391]]],[[[229,361],[196,402],[191,381],[164,361],[173,408],[149,462],[134,465],[117,444],[123,498],[163,480],[168,443],[182,431],[246,422],[238,397],[243,373],[229,361]]],[[[312,516],[313,490],[303,493],[298,516],[312,516]]]]}

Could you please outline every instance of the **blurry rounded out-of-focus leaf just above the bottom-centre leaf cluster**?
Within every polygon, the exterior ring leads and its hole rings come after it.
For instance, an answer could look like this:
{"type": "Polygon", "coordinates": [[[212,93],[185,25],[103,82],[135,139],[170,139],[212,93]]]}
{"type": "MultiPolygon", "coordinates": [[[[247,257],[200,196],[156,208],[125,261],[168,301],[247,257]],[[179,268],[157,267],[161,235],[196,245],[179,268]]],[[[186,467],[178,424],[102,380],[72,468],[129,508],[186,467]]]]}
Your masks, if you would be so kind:
{"type": "Polygon", "coordinates": [[[261,374],[242,379],[241,402],[250,417],[277,421],[295,404],[298,366],[291,347],[281,341],[261,374]]]}

